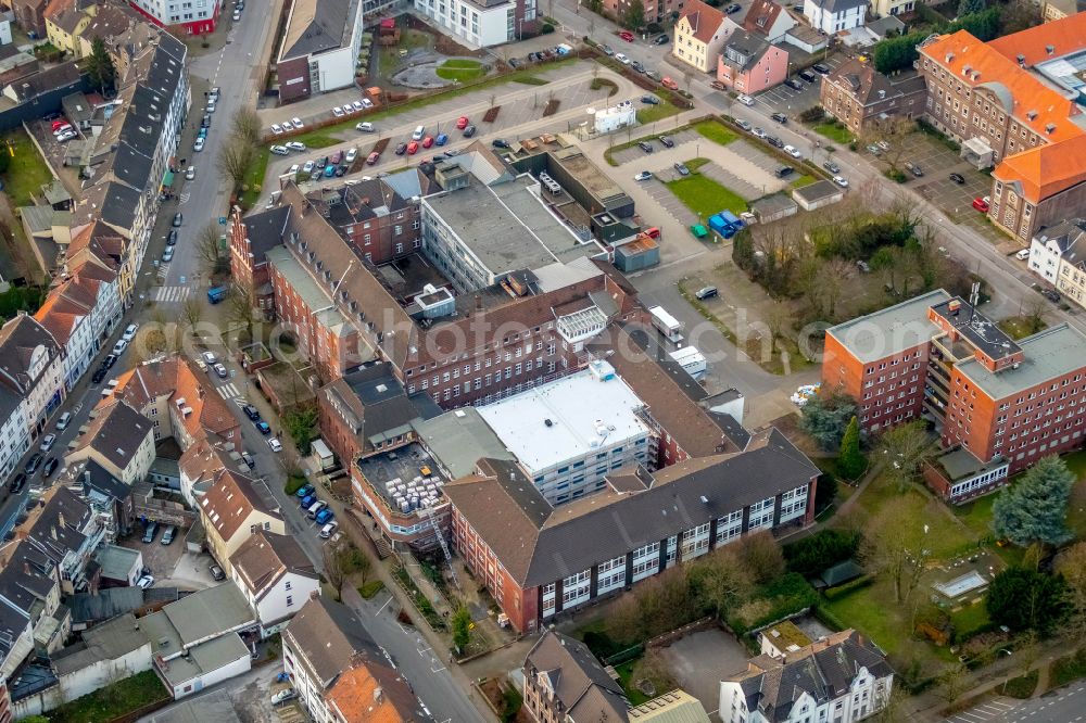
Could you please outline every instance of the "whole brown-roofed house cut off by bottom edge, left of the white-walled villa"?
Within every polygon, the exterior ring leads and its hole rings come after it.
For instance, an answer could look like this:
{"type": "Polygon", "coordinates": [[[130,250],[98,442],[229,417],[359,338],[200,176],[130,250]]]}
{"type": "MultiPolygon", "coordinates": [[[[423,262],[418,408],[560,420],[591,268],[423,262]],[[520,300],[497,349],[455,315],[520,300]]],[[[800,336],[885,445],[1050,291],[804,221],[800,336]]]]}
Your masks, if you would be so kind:
{"type": "Polygon", "coordinates": [[[548,630],[525,658],[525,708],[539,723],[627,721],[622,686],[580,640],[548,630]]]}

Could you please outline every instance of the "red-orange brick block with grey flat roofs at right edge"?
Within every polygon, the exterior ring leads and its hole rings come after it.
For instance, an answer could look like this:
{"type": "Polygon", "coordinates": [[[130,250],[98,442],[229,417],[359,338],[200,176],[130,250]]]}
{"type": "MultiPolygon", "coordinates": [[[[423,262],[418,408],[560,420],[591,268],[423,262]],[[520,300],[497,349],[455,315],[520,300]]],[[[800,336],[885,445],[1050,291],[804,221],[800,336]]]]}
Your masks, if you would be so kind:
{"type": "Polygon", "coordinates": [[[1082,445],[1084,343],[1068,325],[1014,342],[939,290],[829,329],[822,389],[855,398],[868,431],[934,421],[947,454],[925,477],[958,503],[1082,445]]]}

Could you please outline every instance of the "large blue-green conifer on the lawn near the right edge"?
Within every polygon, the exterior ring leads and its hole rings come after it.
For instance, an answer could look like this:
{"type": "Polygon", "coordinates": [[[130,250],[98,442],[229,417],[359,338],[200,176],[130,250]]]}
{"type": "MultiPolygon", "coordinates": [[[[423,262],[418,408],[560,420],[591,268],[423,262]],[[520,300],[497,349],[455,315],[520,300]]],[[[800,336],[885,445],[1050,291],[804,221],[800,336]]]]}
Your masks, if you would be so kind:
{"type": "Polygon", "coordinates": [[[1074,472],[1059,457],[1044,457],[1013,486],[1003,490],[992,506],[992,529],[1000,538],[1020,547],[1039,542],[1061,545],[1071,540],[1068,499],[1074,472]]]}

